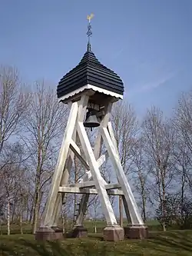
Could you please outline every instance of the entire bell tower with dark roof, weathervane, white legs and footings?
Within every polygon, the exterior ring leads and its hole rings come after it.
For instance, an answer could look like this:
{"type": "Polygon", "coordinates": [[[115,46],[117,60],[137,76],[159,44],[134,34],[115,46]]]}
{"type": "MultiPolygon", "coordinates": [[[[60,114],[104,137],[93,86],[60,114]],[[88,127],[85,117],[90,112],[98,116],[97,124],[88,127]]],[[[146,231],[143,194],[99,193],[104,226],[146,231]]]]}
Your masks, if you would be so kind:
{"type": "Polygon", "coordinates": [[[58,83],[58,99],[60,104],[68,104],[70,113],[41,226],[35,234],[37,240],[63,238],[62,231],[58,229],[58,219],[61,217],[61,205],[66,193],[81,194],[72,232],[74,237],[81,238],[87,235],[83,220],[90,194],[98,194],[101,203],[106,221],[104,240],[120,241],[124,238],[147,237],[147,227],[141,218],[134,194],[121,166],[110,121],[111,108],[115,101],[123,98],[124,85],[121,78],[102,65],[91,50],[92,17],[93,15],[88,16],[87,51],[81,62],[58,83]],[[85,127],[98,130],[94,148],[91,146],[85,127]],[[77,141],[80,142],[81,147],[77,141]],[[101,154],[102,144],[106,149],[104,154],[101,154]],[[72,171],[74,155],[81,161],[86,171],[78,183],[71,185],[68,184],[68,179],[72,171]],[[117,177],[116,184],[108,184],[101,176],[101,165],[104,161],[108,161],[108,158],[117,177]],[[127,222],[131,220],[125,228],[118,224],[109,200],[110,194],[121,195],[123,198],[127,222]]]}

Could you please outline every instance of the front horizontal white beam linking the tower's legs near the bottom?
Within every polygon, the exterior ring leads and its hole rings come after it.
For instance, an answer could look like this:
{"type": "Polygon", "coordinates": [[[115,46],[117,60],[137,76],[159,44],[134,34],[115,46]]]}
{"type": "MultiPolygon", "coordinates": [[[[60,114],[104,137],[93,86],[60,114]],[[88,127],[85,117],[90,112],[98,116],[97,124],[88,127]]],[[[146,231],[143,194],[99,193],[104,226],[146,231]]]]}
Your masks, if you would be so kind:
{"type": "MultiPolygon", "coordinates": [[[[58,192],[60,193],[71,193],[71,194],[98,194],[97,189],[95,188],[69,188],[69,187],[59,187],[58,192]]],[[[123,195],[123,191],[107,191],[111,195],[123,195]]]]}

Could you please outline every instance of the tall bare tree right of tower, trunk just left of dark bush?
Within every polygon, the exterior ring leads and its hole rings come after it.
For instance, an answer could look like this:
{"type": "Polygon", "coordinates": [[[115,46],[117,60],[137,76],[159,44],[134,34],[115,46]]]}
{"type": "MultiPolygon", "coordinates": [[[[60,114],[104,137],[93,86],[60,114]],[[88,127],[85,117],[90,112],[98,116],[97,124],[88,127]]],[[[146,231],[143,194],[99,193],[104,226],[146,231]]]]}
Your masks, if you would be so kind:
{"type": "Polygon", "coordinates": [[[151,189],[154,199],[161,204],[162,226],[166,230],[166,195],[174,177],[174,130],[163,113],[157,108],[147,111],[144,120],[144,144],[149,165],[151,165],[151,189]]]}

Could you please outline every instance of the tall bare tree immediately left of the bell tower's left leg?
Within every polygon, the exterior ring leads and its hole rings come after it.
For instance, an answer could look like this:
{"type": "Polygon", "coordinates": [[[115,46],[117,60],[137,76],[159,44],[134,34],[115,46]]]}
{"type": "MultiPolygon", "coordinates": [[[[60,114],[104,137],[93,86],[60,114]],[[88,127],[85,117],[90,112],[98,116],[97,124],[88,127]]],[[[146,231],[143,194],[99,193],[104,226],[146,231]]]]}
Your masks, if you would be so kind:
{"type": "MultiPolygon", "coordinates": [[[[33,228],[38,224],[38,213],[46,185],[51,179],[60,145],[61,134],[65,128],[65,105],[59,105],[55,92],[45,84],[36,83],[36,91],[31,95],[31,105],[25,118],[25,136],[22,141],[31,152],[31,165],[35,171],[33,201],[33,228]]],[[[47,189],[48,191],[48,189],[47,189]]]]}

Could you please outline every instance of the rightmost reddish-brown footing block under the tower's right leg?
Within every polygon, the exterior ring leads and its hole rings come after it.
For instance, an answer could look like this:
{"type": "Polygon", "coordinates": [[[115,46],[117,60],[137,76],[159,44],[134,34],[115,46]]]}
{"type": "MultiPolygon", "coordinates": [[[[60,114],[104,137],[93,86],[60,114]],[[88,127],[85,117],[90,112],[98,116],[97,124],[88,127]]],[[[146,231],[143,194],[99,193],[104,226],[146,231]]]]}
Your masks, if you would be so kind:
{"type": "Polygon", "coordinates": [[[148,238],[148,228],[145,225],[128,224],[127,227],[124,228],[124,238],[148,238]]]}

